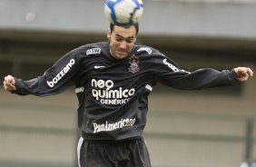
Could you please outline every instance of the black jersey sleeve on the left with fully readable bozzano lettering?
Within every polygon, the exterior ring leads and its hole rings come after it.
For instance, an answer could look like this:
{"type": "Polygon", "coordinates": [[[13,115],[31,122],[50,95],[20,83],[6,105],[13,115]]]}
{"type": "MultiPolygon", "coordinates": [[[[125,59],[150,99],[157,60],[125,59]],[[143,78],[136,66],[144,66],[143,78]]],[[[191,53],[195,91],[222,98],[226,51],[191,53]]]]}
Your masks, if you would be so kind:
{"type": "Polygon", "coordinates": [[[63,92],[74,84],[75,76],[80,69],[79,59],[79,52],[73,50],[60,58],[42,76],[29,81],[15,79],[17,89],[12,93],[46,96],[63,92]]]}

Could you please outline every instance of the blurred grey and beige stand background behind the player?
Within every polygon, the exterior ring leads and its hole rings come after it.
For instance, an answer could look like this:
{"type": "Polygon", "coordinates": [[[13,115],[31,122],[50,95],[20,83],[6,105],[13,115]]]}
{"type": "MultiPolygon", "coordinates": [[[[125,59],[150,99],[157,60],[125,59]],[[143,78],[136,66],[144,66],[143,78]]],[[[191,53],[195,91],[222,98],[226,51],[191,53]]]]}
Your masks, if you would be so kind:
{"type": "MultiPolygon", "coordinates": [[[[106,41],[103,0],[0,0],[0,77],[28,80],[82,44],[106,41]]],[[[144,0],[138,44],[183,69],[256,70],[256,0],[144,0]]],[[[256,158],[256,78],[178,91],[158,84],[144,138],[153,167],[238,167],[256,158]]],[[[75,167],[74,88],[17,96],[0,89],[0,166],[75,167]]]]}

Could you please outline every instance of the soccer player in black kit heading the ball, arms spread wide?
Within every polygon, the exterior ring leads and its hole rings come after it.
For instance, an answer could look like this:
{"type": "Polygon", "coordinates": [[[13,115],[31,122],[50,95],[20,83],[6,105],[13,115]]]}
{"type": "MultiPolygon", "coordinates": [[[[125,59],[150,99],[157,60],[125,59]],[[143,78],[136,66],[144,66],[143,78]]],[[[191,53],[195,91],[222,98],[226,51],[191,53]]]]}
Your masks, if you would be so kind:
{"type": "Polygon", "coordinates": [[[6,91],[46,96],[75,86],[78,98],[80,167],[150,167],[143,140],[148,95],[163,83],[197,90],[245,82],[252,71],[185,71],[158,50],[137,45],[139,25],[111,25],[107,42],[85,44],[65,54],[44,75],[29,81],[5,76],[6,91]]]}

